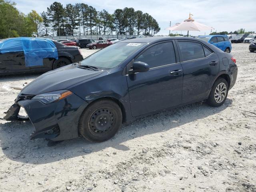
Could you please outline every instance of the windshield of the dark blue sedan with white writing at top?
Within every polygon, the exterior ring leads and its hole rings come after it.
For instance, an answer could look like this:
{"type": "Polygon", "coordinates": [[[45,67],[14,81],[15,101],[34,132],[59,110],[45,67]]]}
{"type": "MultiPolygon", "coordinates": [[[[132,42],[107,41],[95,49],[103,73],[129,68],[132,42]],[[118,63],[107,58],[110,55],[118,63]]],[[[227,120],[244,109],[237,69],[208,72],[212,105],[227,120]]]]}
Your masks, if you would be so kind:
{"type": "Polygon", "coordinates": [[[81,61],[80,65],[94,66],[99,69],[111,69],[120,65],[128,56],[145,43],[115,43],[81,61]]]}

